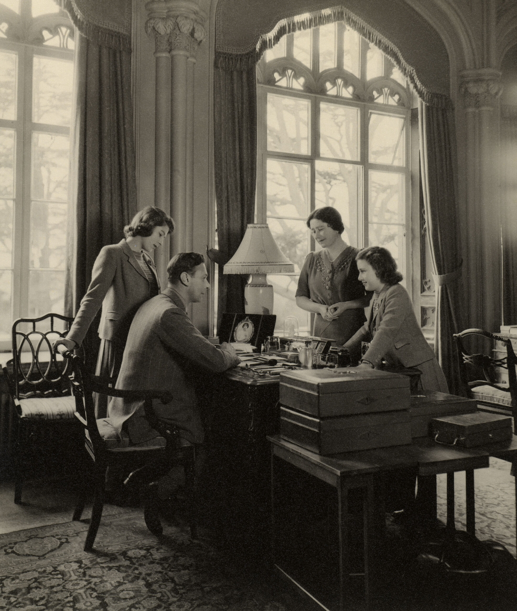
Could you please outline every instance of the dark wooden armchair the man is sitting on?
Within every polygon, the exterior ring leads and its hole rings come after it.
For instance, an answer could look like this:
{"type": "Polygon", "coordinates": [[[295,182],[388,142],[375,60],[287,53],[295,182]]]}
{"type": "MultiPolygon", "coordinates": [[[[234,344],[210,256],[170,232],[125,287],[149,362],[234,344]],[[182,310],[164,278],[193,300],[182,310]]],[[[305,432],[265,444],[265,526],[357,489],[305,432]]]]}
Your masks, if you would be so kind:
{"type": "MultiPolygon", "coordinates": [[[[196,538],[196,476],[195,447],[179,437],[178,431],[167,426],[167,439],[155,437],[144,444],[132,445],[128,434],[122,430],[119,435],[111,425],[109,418],[95,419],[95,407],[92,393],[107,397],[122,397],[128,400],[144,400],[146,417],[153,428],[160,430],[160,425],[152,409],[152,400],[160,399],[162,403],[172,400],[171,393],[165,390],[118,390],[109,386],[111,378],[100,378],[84,371],[83,361],[58,346],[58,351],[72,365],[70,380],[76,402],[76,419],[84,431],[84,447],[91,458],[91,483],[94,488],[94,503],[90,526],[84,543],[84,551],[92,550],[97,530],[99,529],[102,509],[105,500],[105,477],[108,468],[119,470],[119,467],[131,469],[128,480],[137,480],[144,492],[144,521],[154,535],[163,532],[158,517],[158,500],[154,489],[155,478],[165,474],[173,464],[182,464],[185,469],[185,487],[190,499],[190,532],[196,538]],[[132,477],[136,474],[136,477],[132,477]],[[143,474],[143,475],[141,475],[143,474]]],[[[73,520],[80,520],[87,502],[88,486],[81,487],[78,504],[73,513],[73,520]]]]}

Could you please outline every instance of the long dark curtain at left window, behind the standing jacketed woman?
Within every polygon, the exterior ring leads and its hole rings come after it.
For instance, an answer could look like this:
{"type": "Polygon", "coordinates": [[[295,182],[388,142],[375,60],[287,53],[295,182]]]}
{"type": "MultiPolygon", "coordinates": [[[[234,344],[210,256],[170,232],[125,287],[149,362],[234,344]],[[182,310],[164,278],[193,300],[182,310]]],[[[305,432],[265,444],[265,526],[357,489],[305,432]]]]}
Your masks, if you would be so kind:
{"type": "MultiPolygon", "coordinates": [[[[64,7],[76,24],[65,285],[65,313],[73,316],[100,249],[124,237],[137,205],[129,38],[96,31],[78,18],[75,5],[64,7]]],[[[95,321],[87,342],[93,363],[95,321]]]]}

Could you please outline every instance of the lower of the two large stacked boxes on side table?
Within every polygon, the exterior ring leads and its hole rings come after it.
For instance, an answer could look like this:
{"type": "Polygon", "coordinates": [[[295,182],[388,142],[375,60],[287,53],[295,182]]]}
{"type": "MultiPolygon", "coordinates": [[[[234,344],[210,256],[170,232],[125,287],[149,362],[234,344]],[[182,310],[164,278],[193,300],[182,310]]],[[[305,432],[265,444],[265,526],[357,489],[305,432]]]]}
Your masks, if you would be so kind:
{"type": "Polygon", "coordinates": [[[409,410],[317,418],[280,406],[280,436],[321,455],[411,444],[409,410]]]}

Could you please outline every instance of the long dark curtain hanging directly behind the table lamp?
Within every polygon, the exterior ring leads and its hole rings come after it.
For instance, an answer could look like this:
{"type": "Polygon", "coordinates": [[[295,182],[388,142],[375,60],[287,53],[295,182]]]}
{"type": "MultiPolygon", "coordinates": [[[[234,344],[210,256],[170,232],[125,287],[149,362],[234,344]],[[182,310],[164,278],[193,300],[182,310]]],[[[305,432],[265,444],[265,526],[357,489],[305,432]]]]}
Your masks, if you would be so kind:
{"type": "Polygon", "coordinates": [[[223,312],[244,312],[240,275],[223,274],[255,213],[256,187],[255,59],[231,65],[216,61],[214,73],[214,167],[219,263],[218,304],[223,312]]]}

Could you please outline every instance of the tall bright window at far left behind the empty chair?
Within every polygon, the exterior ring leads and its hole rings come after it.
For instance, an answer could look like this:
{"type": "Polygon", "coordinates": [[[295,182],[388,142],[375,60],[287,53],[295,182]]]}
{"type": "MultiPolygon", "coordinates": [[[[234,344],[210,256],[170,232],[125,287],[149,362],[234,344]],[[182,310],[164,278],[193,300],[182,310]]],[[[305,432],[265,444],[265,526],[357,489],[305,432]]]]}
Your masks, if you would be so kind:
{"type": "Polygon", "coordinates": [[[19,316],[63,312],[73,24],[0,0],[0,348],[19,316]]]}

